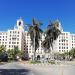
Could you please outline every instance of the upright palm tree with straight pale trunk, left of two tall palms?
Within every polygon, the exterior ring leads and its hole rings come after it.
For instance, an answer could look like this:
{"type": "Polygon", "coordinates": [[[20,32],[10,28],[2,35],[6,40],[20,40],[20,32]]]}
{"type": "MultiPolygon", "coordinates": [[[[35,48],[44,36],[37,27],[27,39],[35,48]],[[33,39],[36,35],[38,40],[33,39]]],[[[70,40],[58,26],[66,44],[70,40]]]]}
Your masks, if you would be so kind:
{"type": "Polygon", "coordinates": [[[33,18],[32,25],[29,26],[31,45],[34,48],[33,60],[36,58],[36,50],[39,47],[39,39],[41,39],[41,33],[43,33],[43,31],[40,29],[40,25],[42,25],[42,23],[33,18]]]}

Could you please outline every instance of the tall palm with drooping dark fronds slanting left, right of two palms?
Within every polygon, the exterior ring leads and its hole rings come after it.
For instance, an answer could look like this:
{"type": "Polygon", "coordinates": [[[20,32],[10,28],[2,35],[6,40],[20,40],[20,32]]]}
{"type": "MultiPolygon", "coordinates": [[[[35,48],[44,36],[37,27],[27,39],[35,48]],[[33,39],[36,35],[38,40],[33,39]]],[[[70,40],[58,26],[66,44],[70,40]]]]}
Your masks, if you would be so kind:
{"type": "Polygon", "coordinates": [[[54,21],[48,25],[45,31],[45,40],[42,42],[45,52],[52,52],[53,42],[58,38],[60,33],[58,21],[54,21]]]}

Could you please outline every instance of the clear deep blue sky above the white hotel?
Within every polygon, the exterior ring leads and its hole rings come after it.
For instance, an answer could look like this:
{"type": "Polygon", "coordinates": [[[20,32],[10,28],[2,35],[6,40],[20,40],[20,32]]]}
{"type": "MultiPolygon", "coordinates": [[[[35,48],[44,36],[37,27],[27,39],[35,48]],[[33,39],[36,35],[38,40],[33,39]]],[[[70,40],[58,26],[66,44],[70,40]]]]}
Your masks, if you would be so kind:
{"type": "Polygon", "coordinates": [[[26,24],[35,17],[43,29],[59,19],[64,31],[75,33],[75,0],[0,0],[0,31],[13,28],[19,17],[26,24]]]}

